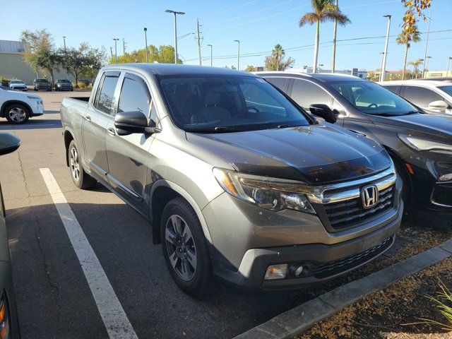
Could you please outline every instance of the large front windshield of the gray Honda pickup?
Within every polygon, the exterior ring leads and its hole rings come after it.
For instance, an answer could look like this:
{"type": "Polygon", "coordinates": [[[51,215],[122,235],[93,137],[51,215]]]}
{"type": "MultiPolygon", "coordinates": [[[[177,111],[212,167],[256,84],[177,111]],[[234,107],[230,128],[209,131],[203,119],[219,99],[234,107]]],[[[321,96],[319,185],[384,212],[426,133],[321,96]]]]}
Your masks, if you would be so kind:
{"type": "Polygon", "coordinates": [[[262,78],[160,76],[170,114],[185,131],[223,133],[309,125],[299,108],[262,78]]]}

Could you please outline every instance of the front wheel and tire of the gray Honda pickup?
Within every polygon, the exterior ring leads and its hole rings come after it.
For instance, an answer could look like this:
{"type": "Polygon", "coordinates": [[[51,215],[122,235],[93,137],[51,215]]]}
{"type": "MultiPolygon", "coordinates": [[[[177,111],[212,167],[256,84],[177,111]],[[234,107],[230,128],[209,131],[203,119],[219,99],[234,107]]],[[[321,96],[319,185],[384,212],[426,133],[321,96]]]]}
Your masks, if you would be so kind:
{"type": "Polygon", "coordinates": [[[212,264],[201,222],[184,198],[174,198],[160,220],[162,251],[169,273],[187,294],[202,298],[213,287],[212,264]]]}

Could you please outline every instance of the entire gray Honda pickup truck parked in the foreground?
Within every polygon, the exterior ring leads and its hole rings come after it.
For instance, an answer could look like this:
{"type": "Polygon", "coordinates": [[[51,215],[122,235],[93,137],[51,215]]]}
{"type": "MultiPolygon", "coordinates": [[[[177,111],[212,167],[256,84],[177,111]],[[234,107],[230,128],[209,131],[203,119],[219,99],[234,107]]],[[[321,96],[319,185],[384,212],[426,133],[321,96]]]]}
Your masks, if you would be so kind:
{"type": "Polygon", "coordinates": [[[386,251],[401,182],[386,150],[320,124],[250,73],[169,64],[100,70],[61,105],[67,165],[150,221],[175,283],[302,287],[386,251]]]}

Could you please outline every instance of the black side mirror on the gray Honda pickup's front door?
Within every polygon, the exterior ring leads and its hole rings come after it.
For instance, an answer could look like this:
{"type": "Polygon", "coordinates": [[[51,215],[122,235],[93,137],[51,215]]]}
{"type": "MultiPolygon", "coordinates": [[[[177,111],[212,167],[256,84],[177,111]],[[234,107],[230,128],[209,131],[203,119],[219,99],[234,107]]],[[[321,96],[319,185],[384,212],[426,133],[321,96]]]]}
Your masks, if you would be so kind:
{"type": "Polygon", "coordinates": [[[128,136],[132,133],[159,133],[161,129],[157,129],[155,121],[148,119],[140,111],[119,112],[114,117],[114,127],[119,136],[128,136]]]}

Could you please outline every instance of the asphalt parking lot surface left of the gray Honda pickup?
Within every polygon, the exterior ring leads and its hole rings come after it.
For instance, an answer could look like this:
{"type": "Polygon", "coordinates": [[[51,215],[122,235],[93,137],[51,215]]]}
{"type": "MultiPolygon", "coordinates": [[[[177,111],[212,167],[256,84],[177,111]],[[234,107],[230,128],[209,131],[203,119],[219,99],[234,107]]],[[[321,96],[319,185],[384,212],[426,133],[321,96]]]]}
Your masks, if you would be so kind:
{"type": "Polygon", "coordinates": [[[16,153],[2,157],[0,182],[23,338],[108,338],[42,168],[56,179],[138,338],[231,338],[333,286],[266,293],[223,287],[204,301],[188,297],[152,244],[148,222],[102,186],[82,191],[71,181],[59,105],[89,93],[38,95],[44,116],[20,126],[0,121],[0,130],[22,139],[16,153]]]}

